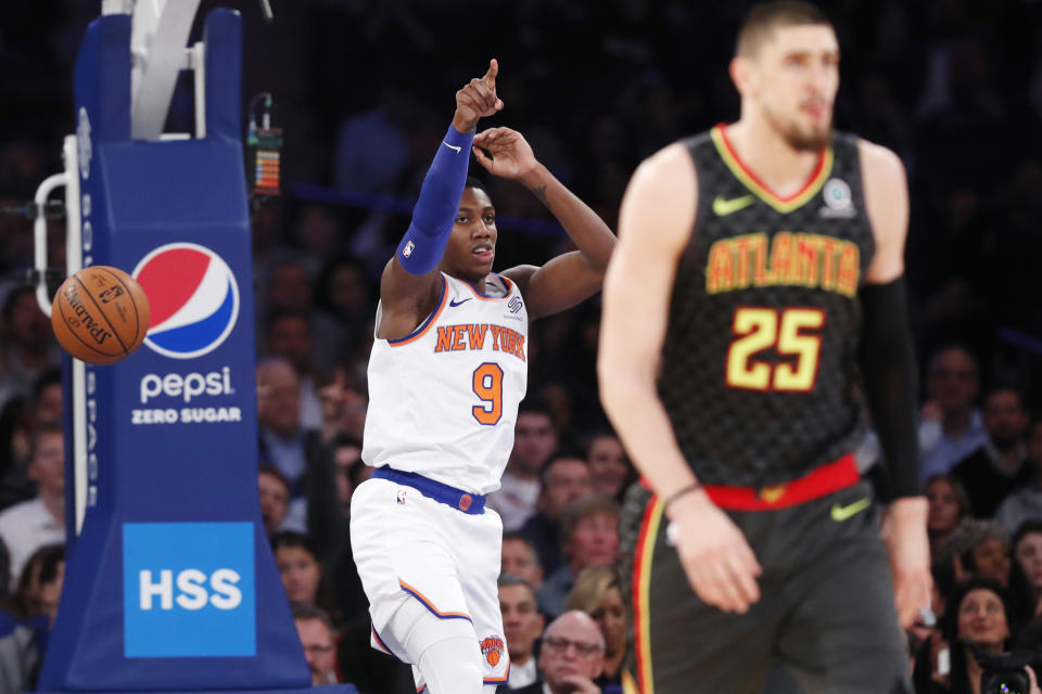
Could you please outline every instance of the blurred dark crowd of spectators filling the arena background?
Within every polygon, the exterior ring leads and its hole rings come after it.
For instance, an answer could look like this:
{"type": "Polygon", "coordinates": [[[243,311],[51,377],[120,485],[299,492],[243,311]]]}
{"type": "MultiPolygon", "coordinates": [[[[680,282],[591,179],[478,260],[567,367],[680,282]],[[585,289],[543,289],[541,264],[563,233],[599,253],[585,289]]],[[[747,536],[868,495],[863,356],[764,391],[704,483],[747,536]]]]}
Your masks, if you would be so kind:
{"type": "MultiPolygon", "coordinates": [[[[60,168],[61,137],[73,130],[72,66],[99,3],[9,4],[0,17],[0,690],[22,691],[63,578],[62,391],[49,322],[23,284],[30,222],[2,213],[60,168]]],[[[242,12],[243,101],[271,91],[287,142],[287,194],[253,217],[263,517],[316,683],[415,691],[407,667],[369,648],[347,542],[351,493],[369,473],[360,450],[377,281],[408,223],[357,201],[415,198],[455,90],[495,56],[506,107],[490,125],[522,131],[614,229],[643,157],[737,117],[726,67],[751,3],[272,4],[271,25],[252,0],[204,0],[199,14],[242,12]],[[323,201],[302,183],[325,187],[323,201]],[[338,192],[356,203],[329,202],[338,192]]],[[[979,664],[962,641],[1000,650],[1042,638],[1042,421],[1033,414],[1042,407],[1042,3],[836,0],[826,10],[843,52],[837,127],[894,150],[910,176],[907,277],[938,587],[932,612],[907,634],[910,667],[917,691],[970,691],[979,664]]],[[[175,98],[170,130],[191,128],[186,94],[175,98]]],[[[510,182],[488,184],[497,213],[517,220],[500,228],[497,269],[563,249],[563,234],[526,224],[545,219],[538,201],[510,182]]],[[[51,223],[54,267],[64,262],[61,228],[51,223]]],[[[556,694],[560,673],[580,663],[602,691],[618,691],[628,588],[608,567],[635,473],[598,402],[598,324],[596,299],[533,324],[530,397],[490,501],[507,529],[500,604],[513,689],[545,681],[556,694]]],[[[859,459],[885,499],[877,458],[869,436],[859,459]]]]}

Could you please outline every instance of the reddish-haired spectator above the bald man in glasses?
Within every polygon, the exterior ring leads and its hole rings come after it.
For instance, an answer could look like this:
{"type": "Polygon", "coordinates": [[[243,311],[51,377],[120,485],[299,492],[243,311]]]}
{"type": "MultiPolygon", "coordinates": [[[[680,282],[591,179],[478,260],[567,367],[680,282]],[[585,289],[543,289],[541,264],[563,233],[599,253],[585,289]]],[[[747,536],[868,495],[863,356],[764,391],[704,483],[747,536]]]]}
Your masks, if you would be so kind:
{"type": "Polygon", "coordinates": [[[564,514],[562,549],[568,563],[551,574],[538,592],[539,611],[556,616],[564,612],[575,577],[594,566],[619,558],[620,507],[610,497],[574,501],[564,514]]]}

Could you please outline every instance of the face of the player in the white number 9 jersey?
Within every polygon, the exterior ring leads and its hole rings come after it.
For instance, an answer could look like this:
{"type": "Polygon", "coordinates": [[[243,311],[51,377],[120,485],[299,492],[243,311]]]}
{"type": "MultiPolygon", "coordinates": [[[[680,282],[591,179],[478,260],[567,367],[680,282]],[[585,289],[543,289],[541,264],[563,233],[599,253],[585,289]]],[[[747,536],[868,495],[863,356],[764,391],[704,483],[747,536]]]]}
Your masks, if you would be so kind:
{"type": "Polygon", "coordinates": [[[465,188],[453,235],[442,256],[442,269],[471,282],[483,279],[492,272],[496,233],[496,208],[488,194],[476,188],[465,188]]]}

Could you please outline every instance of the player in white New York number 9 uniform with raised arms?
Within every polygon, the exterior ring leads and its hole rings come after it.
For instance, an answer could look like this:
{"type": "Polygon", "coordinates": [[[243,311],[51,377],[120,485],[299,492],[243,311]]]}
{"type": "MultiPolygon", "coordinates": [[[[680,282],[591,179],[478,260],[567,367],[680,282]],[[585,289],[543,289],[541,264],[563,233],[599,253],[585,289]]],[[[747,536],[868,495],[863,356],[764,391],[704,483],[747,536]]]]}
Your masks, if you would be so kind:
{"type": "Polygon", "coordinates": [[[414,665],[417,687],[480,694],[506,682],[496,579],[503,526],[484,507],[513,444],[528,375],[529,320],[600,290],[615,237],[539,164],[520,133],[478,119],[503,108],[498,64],[456,93],[412,222],[380,284],[363,459],[351,540],[369,597],[373,647],[414,665]],[[520,181],[577,250],[492,271],[496,214],[467,178],[473,152],[520,181]]]}

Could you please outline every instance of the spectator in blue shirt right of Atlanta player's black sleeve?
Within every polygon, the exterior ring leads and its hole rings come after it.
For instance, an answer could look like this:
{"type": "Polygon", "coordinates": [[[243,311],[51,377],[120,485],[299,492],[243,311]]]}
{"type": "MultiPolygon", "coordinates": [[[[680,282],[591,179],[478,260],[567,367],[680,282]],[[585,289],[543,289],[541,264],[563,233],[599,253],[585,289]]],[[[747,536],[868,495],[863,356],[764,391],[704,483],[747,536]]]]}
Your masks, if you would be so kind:
{"type": "Polygon", "coordinates": [[[919,447],[924,478],[943,475],[987,439],[980,412],[974,408],[980,387],[977,358],[960,345],[942,347],[930,358],[919,447]]]}

